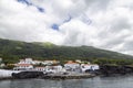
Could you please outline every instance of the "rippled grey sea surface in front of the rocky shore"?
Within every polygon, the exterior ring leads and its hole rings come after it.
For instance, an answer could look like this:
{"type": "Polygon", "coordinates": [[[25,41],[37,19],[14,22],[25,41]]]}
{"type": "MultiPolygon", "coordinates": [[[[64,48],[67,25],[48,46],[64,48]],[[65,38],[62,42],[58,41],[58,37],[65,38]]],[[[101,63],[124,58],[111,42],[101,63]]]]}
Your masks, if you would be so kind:
{"type": "Polygon", "coordinates": [[[133,75],[88,79],[16,79],[0,80],[0,88],[133,88],[133,75]]]}

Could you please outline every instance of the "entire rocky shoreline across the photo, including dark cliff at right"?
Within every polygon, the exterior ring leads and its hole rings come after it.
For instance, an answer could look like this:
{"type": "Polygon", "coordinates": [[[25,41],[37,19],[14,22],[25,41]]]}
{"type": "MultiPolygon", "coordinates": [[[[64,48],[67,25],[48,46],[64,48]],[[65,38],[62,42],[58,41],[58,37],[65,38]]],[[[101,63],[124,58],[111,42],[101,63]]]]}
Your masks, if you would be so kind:
{"type": "Polygon", "coordinates": [[[95,76],[117,76],[133,74],[133,66],[116,66],[103,65],[100,70],[91,72],[91,74],[43,74],[42,72],[21,72],[12,74],[12,77],[0,77],[2,79],[25,79],[25,78],[40,78],[40,79],[81,79],[91,78],[95,76]]]}

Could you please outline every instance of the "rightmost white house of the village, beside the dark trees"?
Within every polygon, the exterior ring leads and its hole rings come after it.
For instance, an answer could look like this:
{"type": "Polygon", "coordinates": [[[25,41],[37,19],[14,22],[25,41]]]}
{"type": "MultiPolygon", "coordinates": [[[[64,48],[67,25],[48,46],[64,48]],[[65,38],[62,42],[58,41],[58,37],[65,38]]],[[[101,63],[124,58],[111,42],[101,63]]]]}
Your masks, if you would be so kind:
{"type": "Polygon", "coordinates": [[[100,69],[100,66],[98,64],[81,64],[82,73],[86,70],[98,70],[98,69],[100,69]]]}

